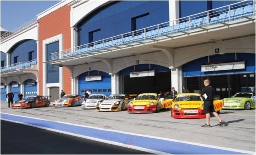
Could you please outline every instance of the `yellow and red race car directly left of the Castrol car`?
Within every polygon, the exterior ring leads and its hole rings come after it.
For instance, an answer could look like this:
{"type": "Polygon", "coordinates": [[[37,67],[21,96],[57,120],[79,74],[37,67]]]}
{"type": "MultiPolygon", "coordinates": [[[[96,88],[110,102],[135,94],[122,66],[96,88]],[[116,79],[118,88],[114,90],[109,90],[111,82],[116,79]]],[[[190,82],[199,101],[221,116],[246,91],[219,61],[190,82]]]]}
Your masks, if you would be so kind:
{"type": "Polygon", "coordinates": [[[153,113],[160,109],[169,108],[170,104],[162,104],[159,101],[159,95],[156,93],[139,94],[133,101],[128,104],[128,113],[153,113]]]}

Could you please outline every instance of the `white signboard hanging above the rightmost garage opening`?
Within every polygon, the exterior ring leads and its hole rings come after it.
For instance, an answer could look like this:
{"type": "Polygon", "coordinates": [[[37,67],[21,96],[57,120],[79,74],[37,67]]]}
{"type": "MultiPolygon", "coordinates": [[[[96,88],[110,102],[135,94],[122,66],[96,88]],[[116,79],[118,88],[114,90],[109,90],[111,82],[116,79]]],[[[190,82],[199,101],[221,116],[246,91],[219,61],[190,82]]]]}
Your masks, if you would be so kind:
{"type": "Polygon", "coordinates": [[[209,71],[223,71],[223,70],[233,70],[233,69],[244,69],[245,61],[233,61],[233,62],[225,62],[225,63],[209,63],[201,65],[202,72],[209,71]]]}

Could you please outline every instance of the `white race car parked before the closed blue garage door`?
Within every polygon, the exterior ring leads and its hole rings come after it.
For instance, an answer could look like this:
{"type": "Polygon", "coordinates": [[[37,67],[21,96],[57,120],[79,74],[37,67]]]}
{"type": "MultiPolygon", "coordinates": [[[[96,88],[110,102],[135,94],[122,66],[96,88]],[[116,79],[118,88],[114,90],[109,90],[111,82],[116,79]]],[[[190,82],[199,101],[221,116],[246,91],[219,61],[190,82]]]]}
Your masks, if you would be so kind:
{"type": "Polygon", "coordinates": [[[105,94],[92,94],[82,102],[82,109],[96,109],[97,102],[102,102],[107,98],[105,94]]]}

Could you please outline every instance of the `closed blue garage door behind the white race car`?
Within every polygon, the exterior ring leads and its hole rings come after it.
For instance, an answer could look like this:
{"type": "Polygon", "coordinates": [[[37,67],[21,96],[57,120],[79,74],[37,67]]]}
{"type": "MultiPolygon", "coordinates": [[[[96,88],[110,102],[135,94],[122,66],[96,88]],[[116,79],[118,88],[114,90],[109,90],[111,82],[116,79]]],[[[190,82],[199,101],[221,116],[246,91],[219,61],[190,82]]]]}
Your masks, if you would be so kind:
{"type": "Polygon", "coordinates": [[[103,93],[107,96],[111,95],[111,75],[101,71],[82,73],[78,78],[78,94],[82,95],[82,92],[86,92],[87,89],[90,89],[92,94],[103,93]],[[102,80],[85,81],[85,77],[97,75],[102,75],[102,80]]]}

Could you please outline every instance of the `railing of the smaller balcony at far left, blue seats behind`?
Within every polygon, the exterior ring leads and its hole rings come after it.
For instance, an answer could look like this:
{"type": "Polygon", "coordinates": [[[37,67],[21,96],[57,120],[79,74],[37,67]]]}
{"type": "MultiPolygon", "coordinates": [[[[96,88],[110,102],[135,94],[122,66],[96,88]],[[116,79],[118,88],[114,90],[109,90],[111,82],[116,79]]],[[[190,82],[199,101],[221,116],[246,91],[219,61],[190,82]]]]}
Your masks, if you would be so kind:
{"type": "Polygon", "coordinates": [[[8,66],[4,66],[1,67],[1,73],[3,72],[9,72],[9,71],[15,71],[18,69],[25,69],[25,68],[31,68],[31,66],[36,65],[37,64],[37,59],[28,61],[28,62],[20,62],[20,63],[15,63],[15,64],[11,64],[8,66]]]}

